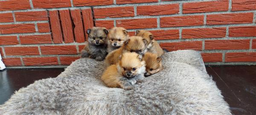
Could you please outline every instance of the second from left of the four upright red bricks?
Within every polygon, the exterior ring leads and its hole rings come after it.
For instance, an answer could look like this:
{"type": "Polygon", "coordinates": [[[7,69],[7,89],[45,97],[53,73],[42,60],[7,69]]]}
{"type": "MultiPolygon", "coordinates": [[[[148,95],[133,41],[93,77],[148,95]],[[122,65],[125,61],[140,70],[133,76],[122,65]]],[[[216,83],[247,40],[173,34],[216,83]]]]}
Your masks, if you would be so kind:
{"type": "Polygon", "coordinates": [[[60,10],[61,26],[65,43],[74,42],[73,27],[69,10],[60,10]]]}

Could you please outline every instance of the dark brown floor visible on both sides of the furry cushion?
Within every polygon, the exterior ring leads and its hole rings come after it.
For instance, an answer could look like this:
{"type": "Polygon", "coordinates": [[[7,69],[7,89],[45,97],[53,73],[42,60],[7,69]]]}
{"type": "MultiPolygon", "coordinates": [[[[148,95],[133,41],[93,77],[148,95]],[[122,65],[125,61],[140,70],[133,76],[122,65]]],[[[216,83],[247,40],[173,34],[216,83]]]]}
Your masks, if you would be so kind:
{"type": "MultiPolygon", "coordinates": [[[[235,115],[256,115],[256,66],[206,66],[235,115]]],[[[0,104],[35,80],[55,78],[64,68],[7,69],[0,72],[0,104]]]]}

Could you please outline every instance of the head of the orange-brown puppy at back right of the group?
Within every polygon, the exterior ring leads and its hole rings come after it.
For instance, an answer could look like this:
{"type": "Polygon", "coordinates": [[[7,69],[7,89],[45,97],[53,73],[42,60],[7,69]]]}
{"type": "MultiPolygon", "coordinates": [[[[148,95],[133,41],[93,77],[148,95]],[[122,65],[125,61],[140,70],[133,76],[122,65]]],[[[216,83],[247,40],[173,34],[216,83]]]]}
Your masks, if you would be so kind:
{"type": "Polygon", "coordinates": [[[146,31],[146,30],[137,30],[136,31],[136,36],[140,36],[143,39],[147,41],[146,47],[151,48],[152,46],[152,40],[154,39],[153,35],[151,32],[146,31]]]}

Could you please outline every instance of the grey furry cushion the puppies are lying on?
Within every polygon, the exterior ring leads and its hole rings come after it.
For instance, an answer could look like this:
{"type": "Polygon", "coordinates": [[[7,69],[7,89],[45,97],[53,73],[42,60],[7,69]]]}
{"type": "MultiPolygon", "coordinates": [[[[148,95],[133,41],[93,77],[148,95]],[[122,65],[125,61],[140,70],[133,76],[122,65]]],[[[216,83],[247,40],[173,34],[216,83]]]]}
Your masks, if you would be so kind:
{"type": "Polygon", "coordinates": [[[162,62],[163,71],[125,91],[102,83],[103,62],[79,59],[57,78],[15,92],[0,106],[0,114],[231,115],[200,52],[168,52],[162,62]]]}

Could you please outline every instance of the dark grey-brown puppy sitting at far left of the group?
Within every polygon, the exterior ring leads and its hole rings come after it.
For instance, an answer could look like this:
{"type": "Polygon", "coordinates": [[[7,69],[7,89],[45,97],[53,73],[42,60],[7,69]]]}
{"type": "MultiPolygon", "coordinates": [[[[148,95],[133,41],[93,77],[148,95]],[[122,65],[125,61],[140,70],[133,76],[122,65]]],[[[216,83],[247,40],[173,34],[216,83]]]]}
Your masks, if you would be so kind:
{"type": "Polygon", "coordinates": [[[93,27],[87,30],[88,42],[81,50],[81,58],[92,58],[97,61],[102,61],[107,53],[107,35],[108,30],[104,27],[93,27]]]}

